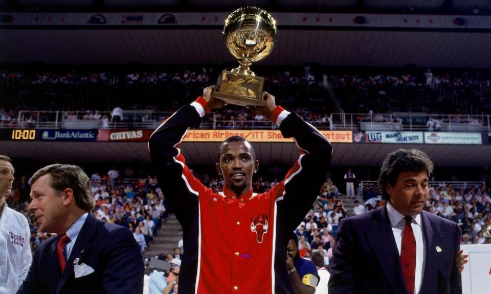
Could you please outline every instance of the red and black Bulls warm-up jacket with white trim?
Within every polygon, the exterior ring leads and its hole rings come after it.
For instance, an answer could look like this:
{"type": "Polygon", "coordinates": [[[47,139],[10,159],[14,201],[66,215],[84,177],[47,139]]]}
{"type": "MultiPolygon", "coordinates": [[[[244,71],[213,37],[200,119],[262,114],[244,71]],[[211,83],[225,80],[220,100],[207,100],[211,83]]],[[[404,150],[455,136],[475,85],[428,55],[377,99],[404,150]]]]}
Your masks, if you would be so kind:
{"type": "Polygon", "coordinates": [[[206,100],[198,97],[164,121],[149,140],[157,180],[184,230],[179,292],[291,293],[288,237],[316,200],[332,146],[297,114],[277,107],[272,121],[300,149],[295,165],[267,192],[251,190],[239,198],[227,188],[216,193],[193,177],[178,148],[207,111],[206,100]]]}

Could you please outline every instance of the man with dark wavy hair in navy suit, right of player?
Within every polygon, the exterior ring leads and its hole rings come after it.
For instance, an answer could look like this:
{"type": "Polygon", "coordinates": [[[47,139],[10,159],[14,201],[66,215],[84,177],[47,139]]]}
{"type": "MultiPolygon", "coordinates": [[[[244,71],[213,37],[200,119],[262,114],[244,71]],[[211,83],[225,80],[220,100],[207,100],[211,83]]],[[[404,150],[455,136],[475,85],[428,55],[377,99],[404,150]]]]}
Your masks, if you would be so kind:
{"type": "Polygon", "coordinates": [[[378,179],[387,205],[341,222],[329,294],[461,292],[460,229],[423,211],[432,170],[419,150],[388,155],[378,179]]]}

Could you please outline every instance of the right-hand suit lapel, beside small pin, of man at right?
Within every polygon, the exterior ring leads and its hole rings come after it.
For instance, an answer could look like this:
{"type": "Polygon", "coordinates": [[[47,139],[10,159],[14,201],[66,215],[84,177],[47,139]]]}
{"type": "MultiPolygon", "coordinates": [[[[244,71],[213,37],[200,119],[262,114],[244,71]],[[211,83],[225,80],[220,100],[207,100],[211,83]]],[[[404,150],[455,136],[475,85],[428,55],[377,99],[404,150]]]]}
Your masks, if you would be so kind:
{"type": "Polygon", "coordinates": [[[425,289],[425,285],[429,282],[434,282],[430,281],[431,279],[434,279],[436,277],[435,271],[437,271],[437,265],[438,263],[434,260],[435,254],[432,250],[436,251],[436,245],[441,243],[441,231],[438,229],[437,226],[431,221],[431,218],[428,216],[427,211],[422,211],[421,212],[421,223],[422,223],[422,229],[423,229],[423,237],[425,238],[425,272],[423,273],[423,280],[421,283],[421,292],[423,292],[423,289],[425,289]],[[426,278],[428,277],[428,278],[426,278]]]}

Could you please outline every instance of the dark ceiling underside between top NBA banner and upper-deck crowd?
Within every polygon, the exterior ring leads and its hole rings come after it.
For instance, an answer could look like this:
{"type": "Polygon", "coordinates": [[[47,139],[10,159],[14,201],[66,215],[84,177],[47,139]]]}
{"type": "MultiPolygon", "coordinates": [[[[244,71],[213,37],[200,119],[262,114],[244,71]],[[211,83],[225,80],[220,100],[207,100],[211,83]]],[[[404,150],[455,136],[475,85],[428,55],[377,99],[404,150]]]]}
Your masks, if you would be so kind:
{"type": "MultiPolygon", "coordinates": [[[[0,30],[0,62],[186,65],[237,62],[221,29],[0,30]],[[7,45],[8,44],[8,45],[7,45]]],[[[261,65],[491,68],[491,32],[298,30],[261,65]]]]}

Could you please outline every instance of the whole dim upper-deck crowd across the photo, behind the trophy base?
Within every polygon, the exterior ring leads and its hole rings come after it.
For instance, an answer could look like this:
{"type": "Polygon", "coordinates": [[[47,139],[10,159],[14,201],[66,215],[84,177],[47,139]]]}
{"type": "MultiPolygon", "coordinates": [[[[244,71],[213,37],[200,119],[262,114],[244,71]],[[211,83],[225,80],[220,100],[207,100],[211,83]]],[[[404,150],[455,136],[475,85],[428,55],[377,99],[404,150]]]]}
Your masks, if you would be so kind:
{"type": "MultiPolygon", "coordinates": [[[[203,87],[214,84],[220,70],[203,67],[122,73],[93,71],[0,71],[3,97],[0,125],[16,126],[20,122],[34,125],[36,120],[43,119],[38,116],[40,110],[61,110],[66,114],[64,118],[101,121],[111,121],[111,112],[116,107],[172,112],[194,100],[203,87]],[[19,122],[19,110],[32,112],[19,122]],[[71,111],[77,111],[75,117],[71,111]]],[[[477,74],[474,78],[465,72],[434,76],[431,71],[330,75],[323,74],[325,69],[315,71],[308,66],[292,71],[272,69],[261,76],[265,78],[264,89],[275,94],[279,104],[296,110],[305,120],[321,127],[328,127],[330,113],[339,111],[334,107],[334,100],[340,102],[344,112],[370,113],[369,118],[374,121],[399,121],[396,116],[387,115],[393,112],[432,114],[429,127],[435,129],[440,122],[479,123],[470,121],[476,118],[458,115],[491,110],[491,81],[477,74]],[[454,114],[454,117],[440,117],[441,114],[454,114]]],[[[262,120],[267,120],[243,107],[227,107],[215,114],[218,128],[260,126],[262,120]]]]}

